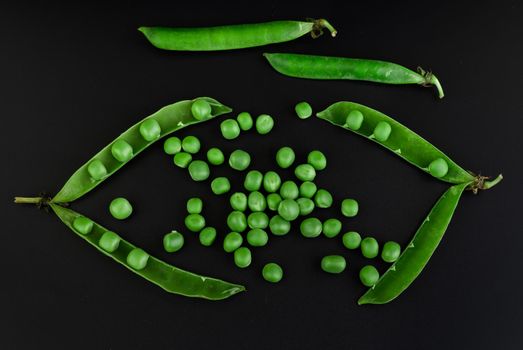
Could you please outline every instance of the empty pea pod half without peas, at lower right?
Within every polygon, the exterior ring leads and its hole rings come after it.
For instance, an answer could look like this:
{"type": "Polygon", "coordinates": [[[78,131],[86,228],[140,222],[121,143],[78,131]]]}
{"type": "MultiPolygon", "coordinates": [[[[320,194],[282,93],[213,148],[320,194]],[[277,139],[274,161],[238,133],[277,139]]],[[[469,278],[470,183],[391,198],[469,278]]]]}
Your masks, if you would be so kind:
{"type": "Polygon", "coordinates": [[[469,185],[451,186],[440,197],[398,260],[358,300],[358,304],[388,303],[414,282],[438,247],[461,194],[469,185]]]}

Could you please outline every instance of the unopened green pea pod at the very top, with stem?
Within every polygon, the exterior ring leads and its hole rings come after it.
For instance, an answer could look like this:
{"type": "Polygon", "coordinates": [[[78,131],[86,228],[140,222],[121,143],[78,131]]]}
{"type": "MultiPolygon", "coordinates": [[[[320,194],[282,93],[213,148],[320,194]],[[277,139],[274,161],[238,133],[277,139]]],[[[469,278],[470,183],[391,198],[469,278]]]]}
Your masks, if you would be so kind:
{"type": "Polygon", "coordinates": [[[318,37],[327,28],[331,35],[336,30],[325,19],[274,21],[202,28],[140,27],[147,40],[155,47],[176,51],[234,50],[297,39],[307,33],[318,37]]]}

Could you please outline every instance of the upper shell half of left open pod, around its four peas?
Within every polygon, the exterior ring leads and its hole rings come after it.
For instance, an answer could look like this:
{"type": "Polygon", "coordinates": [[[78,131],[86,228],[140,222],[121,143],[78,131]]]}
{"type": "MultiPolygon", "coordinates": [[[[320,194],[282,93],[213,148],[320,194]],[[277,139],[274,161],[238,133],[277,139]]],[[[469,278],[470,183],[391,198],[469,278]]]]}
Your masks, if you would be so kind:
{"type": "Polygon", "coordinates": [[[142,152],[144,149],[152,145],[163,136],[175,132],[188,125],[200,123],[230,111],[231,108],[224,106],[220,102],[209,97],[200,97],[194,100],[180,101],[163,107],[156,113],[131,126],[111,144],[95,154],[94,157],[92,157],[86,164],[82,165],[69,178],[62,189],[56,194],[56,196],[54,196],[51,202],[68,203],[82,197],[84,194],[102,183],[109,176],[114,174],[122,166],[127,164],[127,162],[129,162],[137,154],[142,152]],[[195,118],[191,111],[193,103],[198,100],[206,101],[211,107],[210,114],[203,119],[195,118]],[[157,123],[154,123],[154,121],[157,123]],[[159,126],[158,134],[155,135],[154,139],[150,141],[147,141],[140,133],[140,126],[147,122],[153,122],[155,125],[159,126]],[[116,159],[111,150],[113,144],[118,141],[125,141],[128,145],[131,146],[132,153],[130,158],[126,159],[125,161],[116,159]],[[89,172],[89,166],[91,164],[102,164],[102,166],[105,168],[105,175],[103,177],[94,179],[89,172]]]}

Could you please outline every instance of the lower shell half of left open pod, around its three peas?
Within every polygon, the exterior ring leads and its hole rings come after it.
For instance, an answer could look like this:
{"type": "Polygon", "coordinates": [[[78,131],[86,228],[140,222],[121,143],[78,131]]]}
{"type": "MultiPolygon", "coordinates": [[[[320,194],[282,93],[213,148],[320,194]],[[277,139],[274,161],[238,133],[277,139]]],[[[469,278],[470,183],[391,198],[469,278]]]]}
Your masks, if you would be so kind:
{"type": "MultiPolygon", "coordinates": [[[[219,279],[197,275],[195,273],[179,269],[169,265],[153,256],[149,256],[143,251],[137,249],[133,244],[119,238],[116,245],[107,251],[100,245],[100,239],[108,232],[101,225],[92,222],[89,231],[80,232],[79,227],[75,227],[75,219],[83,217],[79,213],[64,208],[58,204],[50,203],[52,210],[56,215],[78,236],[93,245],[103,254],[113,258],[129,270],[146,280],[160,286],[167,292],[184,295],[187,297],[198,297],[209,300],[221,300],[245,290],[244,286],[232,284],[219,279]],[[141,260],[140,266],[132,267],[133,262],[129,262],[129,254],[133,251],[141,252],[141,257],[146,256],[148,259],[141,260]]],[[[118,237],[112,233],[114,237],[118,237]]],[[[134,263],[136,264],[136,263],[134,263]]]]}

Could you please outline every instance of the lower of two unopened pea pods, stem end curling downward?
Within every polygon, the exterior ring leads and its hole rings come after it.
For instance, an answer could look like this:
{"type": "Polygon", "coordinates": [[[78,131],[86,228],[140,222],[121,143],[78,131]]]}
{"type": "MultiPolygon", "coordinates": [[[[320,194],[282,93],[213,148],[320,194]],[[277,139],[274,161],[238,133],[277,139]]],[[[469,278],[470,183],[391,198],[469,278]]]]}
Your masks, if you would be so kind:
{"type": "Polygon", "coordinates": [[[414,72],[399,64],[378,60],[290,53],[264,53],[263,55],[276,71],[290,77],[433,85],[438,89],[439,98],[445,96],[438,78],[421,67],[418,67],[418,72],[414,72]]]}

